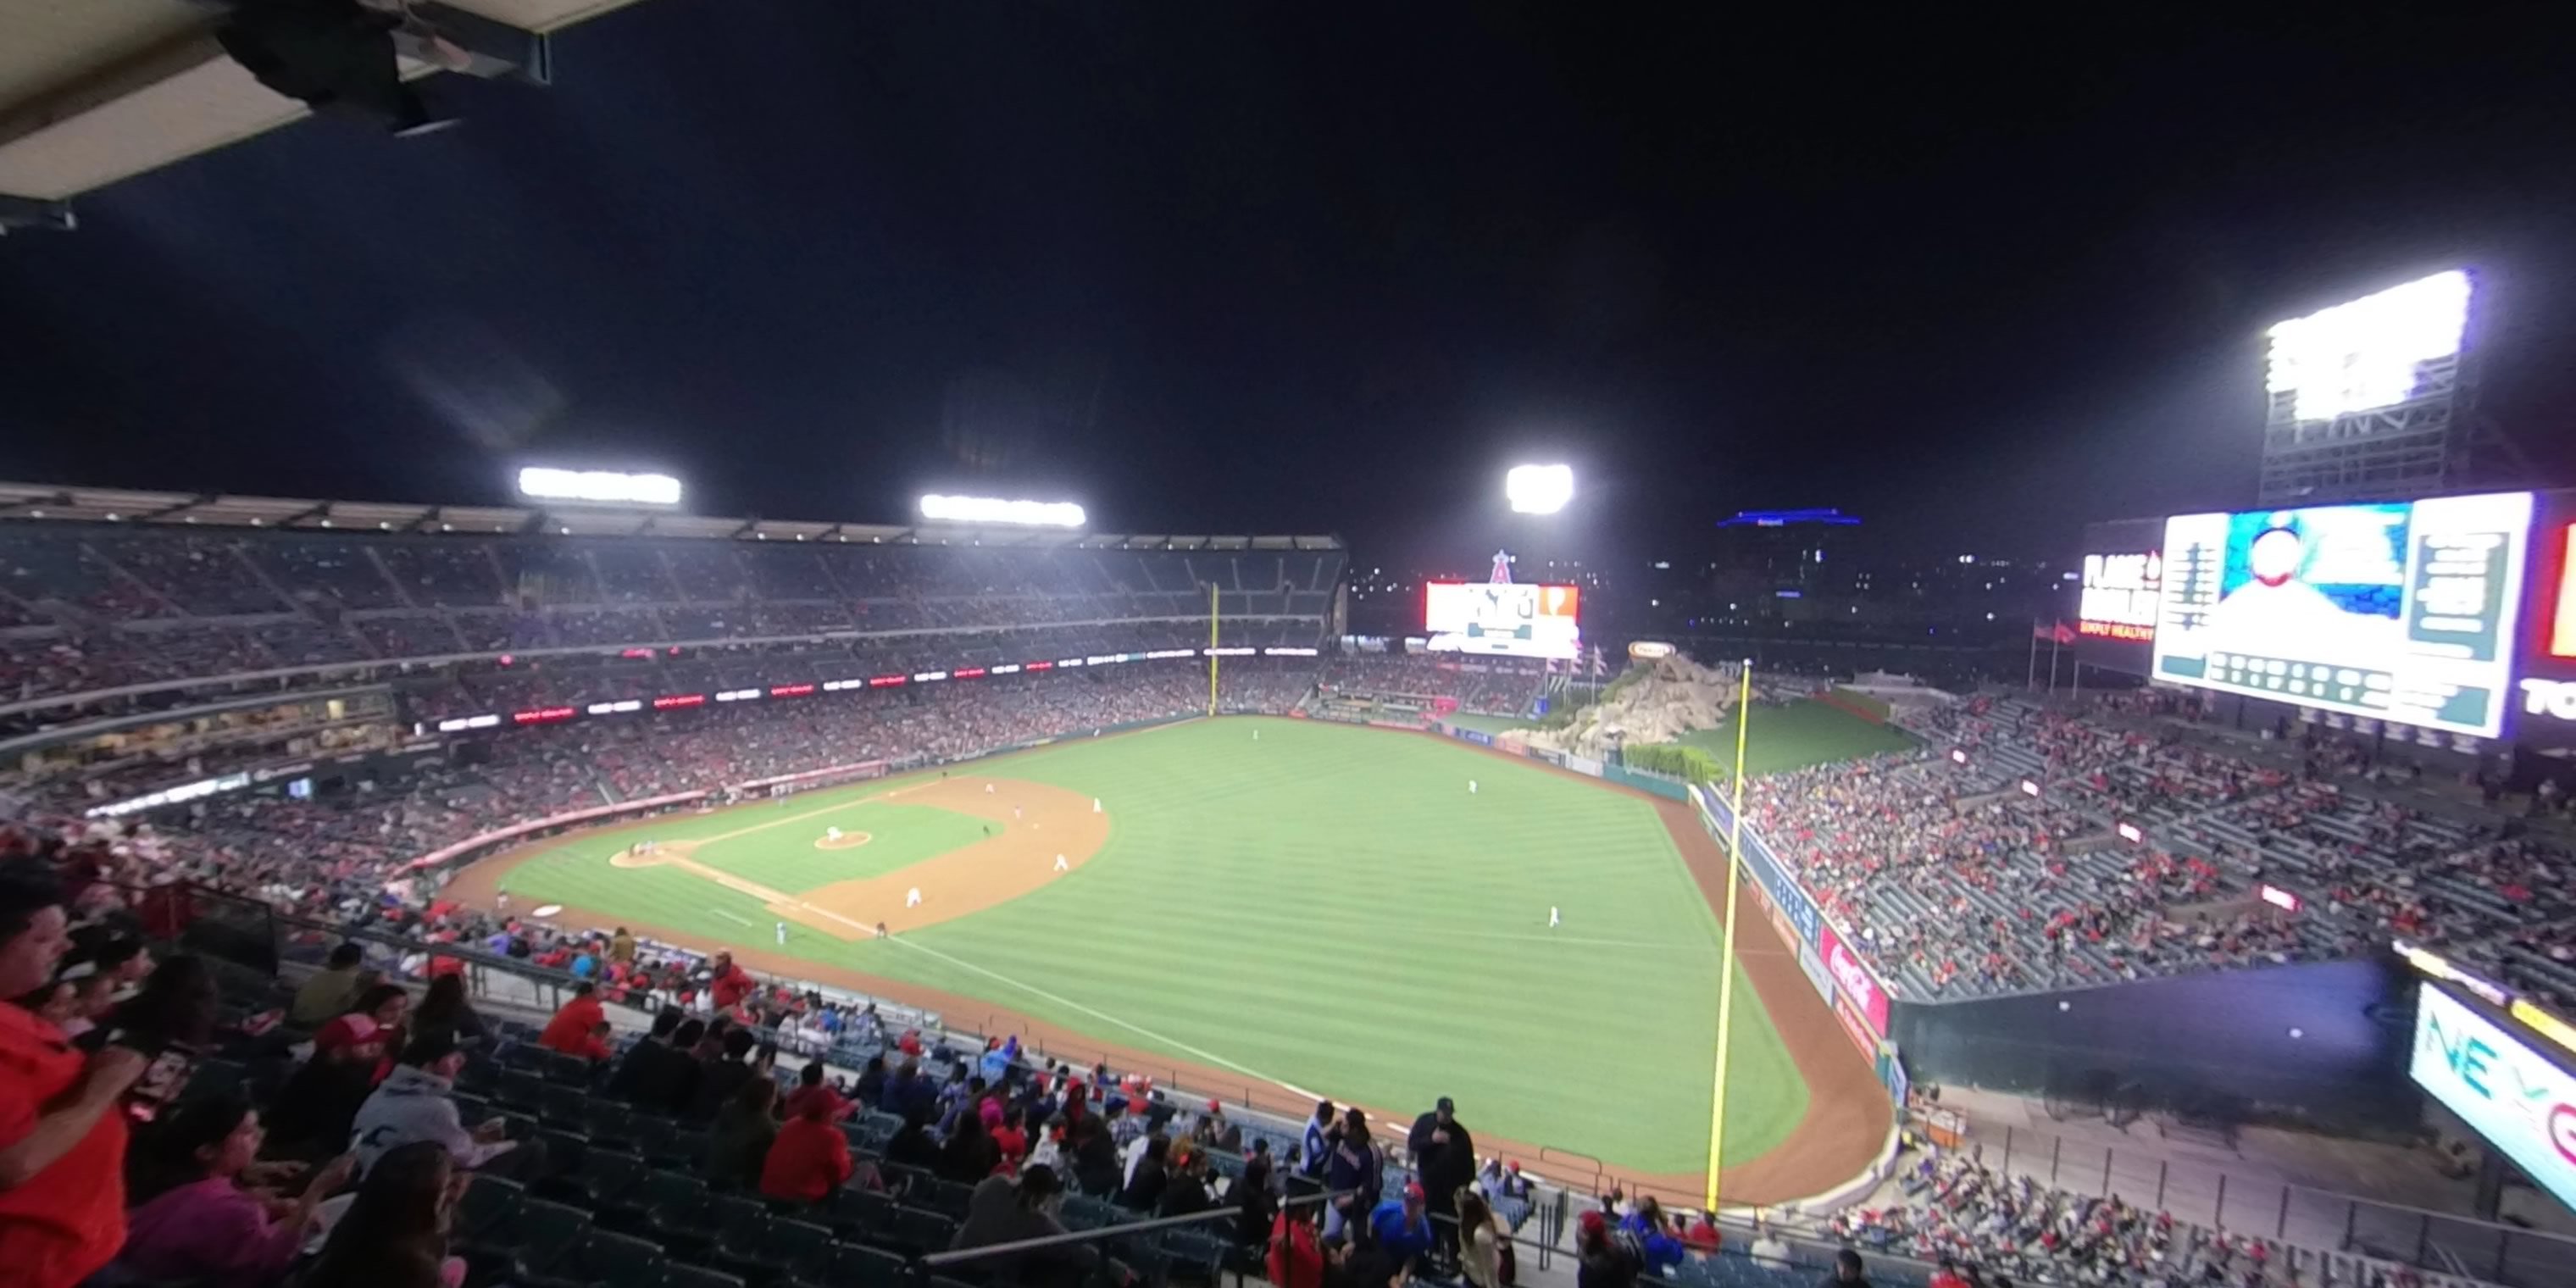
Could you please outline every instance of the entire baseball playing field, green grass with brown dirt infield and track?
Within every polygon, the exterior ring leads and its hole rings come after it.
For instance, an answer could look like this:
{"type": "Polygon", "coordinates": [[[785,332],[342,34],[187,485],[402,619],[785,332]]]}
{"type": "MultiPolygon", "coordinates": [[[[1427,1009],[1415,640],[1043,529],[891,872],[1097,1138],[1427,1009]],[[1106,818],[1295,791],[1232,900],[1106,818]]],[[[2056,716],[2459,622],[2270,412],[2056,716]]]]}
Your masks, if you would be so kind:
{"type": "MultiPolygon", "coordinates": [[[[1430,734],[1213,719],[554,837],[451,896],[1283,1113],[1360,1103],[1399,1136],[1450,1095],[1486,1154],[1680,1198],[1708,1157],[1721,881],[1687,804],[1430,734]]],[[[1826,1190],[1886,1095],[1757,914],[1736,969],[1728,1200],[1826,1190]]]]}

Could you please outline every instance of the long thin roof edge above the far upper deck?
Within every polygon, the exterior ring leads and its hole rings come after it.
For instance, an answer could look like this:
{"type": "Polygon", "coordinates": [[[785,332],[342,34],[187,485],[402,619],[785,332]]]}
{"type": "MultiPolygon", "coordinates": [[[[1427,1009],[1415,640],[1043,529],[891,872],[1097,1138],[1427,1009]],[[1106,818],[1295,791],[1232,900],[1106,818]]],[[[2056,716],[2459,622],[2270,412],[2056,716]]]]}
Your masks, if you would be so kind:
{"type": "Polygon", "coordinates": [[[878,546],[1072,546],[1108,551],[1337,551],[1337,536],[1172,536],[958,523],[817,523],[708,518],[608,505],[394,505],[366,500],[234,497],[0,482],[0,520],[312,528],[381,533],[690,536],[714,541],[837,541],[878,546]]]}

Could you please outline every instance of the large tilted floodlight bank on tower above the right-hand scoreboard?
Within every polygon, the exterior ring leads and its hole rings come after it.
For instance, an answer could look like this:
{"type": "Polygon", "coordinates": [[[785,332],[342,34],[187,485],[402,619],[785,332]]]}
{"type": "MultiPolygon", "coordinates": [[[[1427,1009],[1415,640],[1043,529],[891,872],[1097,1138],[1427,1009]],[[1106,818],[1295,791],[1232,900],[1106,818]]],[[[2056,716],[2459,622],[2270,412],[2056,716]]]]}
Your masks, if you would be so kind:
{"type": "Polygon", "coordinates": [[[2434,273],[2375,296],[2272,327],[2275,394],[2295,394],[2298,420],[2334,420],[2406,402],[2416,368],[2460,353],[2468,273],[2434,273]]]}

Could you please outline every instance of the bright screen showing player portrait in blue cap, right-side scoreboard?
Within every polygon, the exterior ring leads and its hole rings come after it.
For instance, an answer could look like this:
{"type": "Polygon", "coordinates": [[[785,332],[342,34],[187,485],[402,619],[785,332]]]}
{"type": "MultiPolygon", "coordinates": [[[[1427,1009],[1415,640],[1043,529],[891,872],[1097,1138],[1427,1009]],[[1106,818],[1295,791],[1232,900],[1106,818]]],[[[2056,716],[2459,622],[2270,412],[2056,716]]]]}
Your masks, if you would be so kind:
{"type": "Polygon", "coordinates": [[[2164,520],[2154,677],[2494,737],[2530,492],[2164,520]]]}

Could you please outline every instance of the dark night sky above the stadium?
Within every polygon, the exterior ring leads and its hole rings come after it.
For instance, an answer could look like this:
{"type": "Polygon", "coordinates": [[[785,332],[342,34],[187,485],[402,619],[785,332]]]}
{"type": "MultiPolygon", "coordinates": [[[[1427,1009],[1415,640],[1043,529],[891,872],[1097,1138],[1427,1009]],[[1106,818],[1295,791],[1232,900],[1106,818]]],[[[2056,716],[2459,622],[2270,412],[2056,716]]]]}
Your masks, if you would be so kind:
{"type": "Polygon", "coordinates": [[[443,77],[459,131],[301,124],[0,240],[0,477],[639,464],[1476,567],[1538,456],[1569,551],[1842,505],[2066,554],[2251,500],[2267,322],[2470,265],[2483,407],[2571,482],[2545,8],[1649,8],[641,0],[551,90],[443,77]]]}

